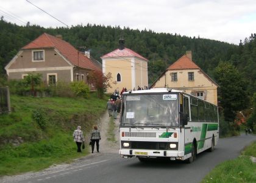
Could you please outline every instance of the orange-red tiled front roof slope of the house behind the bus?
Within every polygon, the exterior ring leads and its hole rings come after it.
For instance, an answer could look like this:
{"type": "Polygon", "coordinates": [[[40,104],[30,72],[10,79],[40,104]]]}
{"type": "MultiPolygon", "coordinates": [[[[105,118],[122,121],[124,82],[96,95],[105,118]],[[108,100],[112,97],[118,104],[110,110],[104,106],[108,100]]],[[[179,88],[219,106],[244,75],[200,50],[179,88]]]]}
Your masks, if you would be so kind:
{"type": "Polygon", "coordinates": [[[200,69],[190,58],[183,55],[176,62],[171,64],[167,70],[200,69]]]}

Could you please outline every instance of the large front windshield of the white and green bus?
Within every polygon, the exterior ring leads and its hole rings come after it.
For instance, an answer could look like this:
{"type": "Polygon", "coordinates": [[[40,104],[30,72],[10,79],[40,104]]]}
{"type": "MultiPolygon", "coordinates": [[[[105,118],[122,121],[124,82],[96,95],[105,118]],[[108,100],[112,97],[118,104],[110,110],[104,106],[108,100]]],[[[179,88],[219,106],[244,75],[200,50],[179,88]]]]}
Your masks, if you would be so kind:
{"type": "Polygon", "coordinates": [[[121,126],[179,126],[178,94],[124,95],[121,126]]]}

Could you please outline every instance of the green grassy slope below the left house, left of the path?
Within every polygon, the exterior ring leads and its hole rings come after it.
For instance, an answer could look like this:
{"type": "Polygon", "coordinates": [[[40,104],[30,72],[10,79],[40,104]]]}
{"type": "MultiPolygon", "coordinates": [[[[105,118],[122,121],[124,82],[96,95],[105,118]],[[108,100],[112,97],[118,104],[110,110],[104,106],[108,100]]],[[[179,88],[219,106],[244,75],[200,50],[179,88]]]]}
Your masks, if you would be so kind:
{"type": "Polygon", "coordinates": [[[105,111],[105,102],[93,94],[87,99],[13,95],[13,112],[0,117],[0,176],[85,156],[88,150],[76,152],[73,131],[80,125],[88,134],[105,111]],[[40,114],[37,118],[32,117],[35,111],[40,114]]]}

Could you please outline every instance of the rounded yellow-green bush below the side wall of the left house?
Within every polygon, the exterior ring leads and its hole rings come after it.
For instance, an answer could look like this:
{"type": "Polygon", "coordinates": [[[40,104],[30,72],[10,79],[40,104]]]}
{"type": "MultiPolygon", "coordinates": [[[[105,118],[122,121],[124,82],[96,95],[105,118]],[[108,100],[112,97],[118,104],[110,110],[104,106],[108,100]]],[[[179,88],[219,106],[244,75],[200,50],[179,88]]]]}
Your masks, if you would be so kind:
{"type": "Polygon", "coordinates": [[[90,94],[90,88],[85,85],[83,81],[74,81],[70,83],[71,89],[77,97],[88,98],[90,94]]]}

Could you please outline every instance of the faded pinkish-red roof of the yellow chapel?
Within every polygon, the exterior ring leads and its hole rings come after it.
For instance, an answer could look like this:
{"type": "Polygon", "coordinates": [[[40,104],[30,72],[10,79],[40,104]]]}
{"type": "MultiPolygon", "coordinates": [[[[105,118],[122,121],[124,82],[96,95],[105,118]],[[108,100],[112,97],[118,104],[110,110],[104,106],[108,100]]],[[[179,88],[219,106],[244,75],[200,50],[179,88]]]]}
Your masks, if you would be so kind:
{"type": "Polygon", "coordinates": [[[116,57],[137,57],[141,58],[142,60],[148,61],[148,59],[142,57],[140,54],[137,54],[133,50],[124,47],[123,50],[115,49],[112,52],[103,55],[101,58],[116,58],[116,57]]]}

